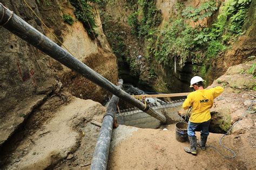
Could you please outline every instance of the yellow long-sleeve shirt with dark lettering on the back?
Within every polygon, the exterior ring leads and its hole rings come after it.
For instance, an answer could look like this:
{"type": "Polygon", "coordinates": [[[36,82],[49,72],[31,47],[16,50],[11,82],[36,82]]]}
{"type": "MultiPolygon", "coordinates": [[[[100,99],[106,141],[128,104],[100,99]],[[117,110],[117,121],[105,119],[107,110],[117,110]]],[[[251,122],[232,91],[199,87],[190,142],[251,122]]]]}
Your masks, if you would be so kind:
{"type": "Polygon", "coordinates": [[[182,106],[185,110],[190,106],[193,107],[190,121],[192,123],[202,123],[210,120],[210,108],[213,106],[213,99],[217,98],[223,91],[223,87],[217,86],[211,89],[197,90],[188,94],[182,106]]]}

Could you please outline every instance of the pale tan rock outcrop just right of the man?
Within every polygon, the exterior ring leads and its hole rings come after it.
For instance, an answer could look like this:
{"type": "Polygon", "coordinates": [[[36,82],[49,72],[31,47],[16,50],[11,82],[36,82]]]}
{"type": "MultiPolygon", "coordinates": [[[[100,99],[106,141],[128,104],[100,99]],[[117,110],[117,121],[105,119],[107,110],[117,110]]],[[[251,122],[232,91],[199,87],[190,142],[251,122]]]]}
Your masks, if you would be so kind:
{"type": "Polygon", "coordinates": [[[256,111],[256,80],[253,76],[255,64],[253,60],[232,66],[209,86],[225,88],[223,94],[214,101],[210,129],[215,129],[218,133],[227,132],[231,125],[240,118],[241,120],[233,128],[232,133],[245,133],[253,128],[255,116],[251,113],[256,111]]]}

